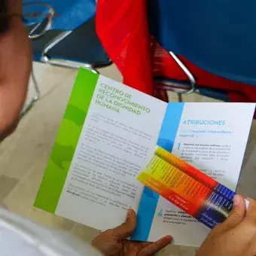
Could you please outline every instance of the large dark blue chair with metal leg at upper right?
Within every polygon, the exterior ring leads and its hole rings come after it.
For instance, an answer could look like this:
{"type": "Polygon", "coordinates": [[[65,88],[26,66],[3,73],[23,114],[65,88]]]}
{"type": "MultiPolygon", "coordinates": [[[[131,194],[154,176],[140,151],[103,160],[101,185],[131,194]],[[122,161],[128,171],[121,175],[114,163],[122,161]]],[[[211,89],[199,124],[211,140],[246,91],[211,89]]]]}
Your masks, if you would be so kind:
{"type": "MultiPolygon", "coordinates": [[[[255,86],[255,8],[253,0],[149,0],[148,19],[151,34],[176,62],[177,55],[185,56],[214,75],[255,86]]],[[[187,78],[185,93],[197,92],[196,79],[187,78]]]]}

